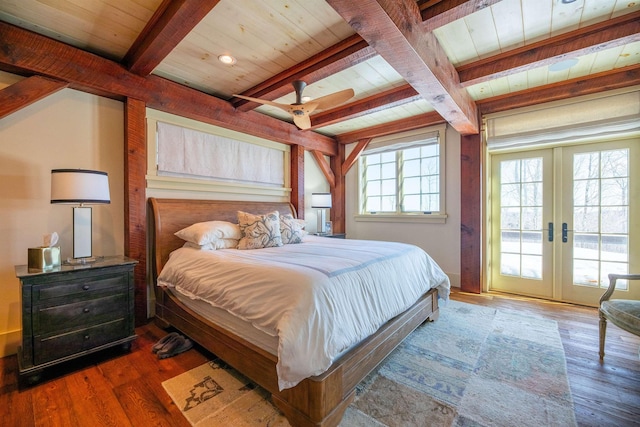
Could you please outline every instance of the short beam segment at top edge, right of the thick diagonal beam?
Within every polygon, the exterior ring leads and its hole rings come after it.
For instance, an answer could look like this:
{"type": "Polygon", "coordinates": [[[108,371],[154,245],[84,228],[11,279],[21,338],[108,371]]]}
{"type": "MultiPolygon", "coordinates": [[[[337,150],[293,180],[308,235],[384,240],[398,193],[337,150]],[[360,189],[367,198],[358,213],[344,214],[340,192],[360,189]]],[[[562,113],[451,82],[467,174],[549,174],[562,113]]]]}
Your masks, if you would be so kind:
{"type": "Polygon", "coordinates": [[[433,31],[502,0],[450,0],[419,2],[422,25],[433,31]]]}

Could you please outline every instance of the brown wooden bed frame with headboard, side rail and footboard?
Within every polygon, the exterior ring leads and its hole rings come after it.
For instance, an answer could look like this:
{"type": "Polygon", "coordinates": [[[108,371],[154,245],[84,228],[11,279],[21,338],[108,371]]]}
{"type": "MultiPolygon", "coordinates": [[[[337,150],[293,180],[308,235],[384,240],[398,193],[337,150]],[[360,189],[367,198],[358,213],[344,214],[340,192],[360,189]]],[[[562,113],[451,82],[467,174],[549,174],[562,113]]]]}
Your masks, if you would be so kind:
{"type": "MultiPolygon", "coordinates": [[[[183,241],[176,231],[202,221],[237,222],[237,211],[262,214],[295,209],[290,203],[235,202],[187,199],[149,199],[150,249],[153,283],[171,251],[183,241]]],[[[337,426],[353,401],[356,385],[402,340],[426,320],[438,317],[438,294],[432,289],[404,313],[391,319],[374,335],[336,360],[323,374],[279,391],[277,356],[262,350],[181,304],[156,286],[156,322],[173,326],[271,393],[273,403],[294,427],[337,426]]]]}

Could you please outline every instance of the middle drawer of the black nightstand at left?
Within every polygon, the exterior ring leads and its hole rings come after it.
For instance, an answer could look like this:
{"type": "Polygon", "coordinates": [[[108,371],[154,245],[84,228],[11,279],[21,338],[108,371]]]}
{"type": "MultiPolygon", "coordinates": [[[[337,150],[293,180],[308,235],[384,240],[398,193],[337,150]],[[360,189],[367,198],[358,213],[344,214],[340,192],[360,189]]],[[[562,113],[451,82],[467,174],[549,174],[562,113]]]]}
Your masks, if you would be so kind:
{"type": "Polygon", "coordinates": [[[33,333],[53,335],[126,317],[129,307],[127,300],[128,295],[123,293],[73,304],[36,308],[33,313],[33,333]]]}

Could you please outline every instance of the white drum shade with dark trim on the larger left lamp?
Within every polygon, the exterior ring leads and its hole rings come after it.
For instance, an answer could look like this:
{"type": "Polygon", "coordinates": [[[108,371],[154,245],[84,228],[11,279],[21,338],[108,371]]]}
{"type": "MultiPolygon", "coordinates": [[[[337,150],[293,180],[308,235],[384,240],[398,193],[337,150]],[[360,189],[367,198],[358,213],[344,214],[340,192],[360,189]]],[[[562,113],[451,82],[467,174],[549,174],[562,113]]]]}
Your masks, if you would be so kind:
{"type": "Polygon", "coordinates": [[[51,203],[111,203],[107,173],[85,169],[51,170],[51,203]]]}

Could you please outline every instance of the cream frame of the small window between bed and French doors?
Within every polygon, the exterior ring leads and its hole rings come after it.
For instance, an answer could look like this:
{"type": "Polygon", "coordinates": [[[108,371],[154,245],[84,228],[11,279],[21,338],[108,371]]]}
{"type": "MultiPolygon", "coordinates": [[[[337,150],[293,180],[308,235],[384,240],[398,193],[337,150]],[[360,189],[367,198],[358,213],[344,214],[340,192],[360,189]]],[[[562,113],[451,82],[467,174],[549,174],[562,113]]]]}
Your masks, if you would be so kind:
{"type": "Polygon", "coordinates": [[[446,125],[433,126],[429,128],[417,129],[414,131],[403,132],[399,134],[389,135],[386,137],[376,138],[369,143],[367,148],[362,152],[357,163],[358,174],[358,214],[355,215],[356,221],[375,221],[375,222],[429,222],[429,223],[445,223],[446,205],[445,205],[445,135],[446,125]],[[435,144],[439,147],[439,205],[438,211],[431,212],[402,212],[400,206],[401,188],[401,164],[396,160],[396,212],[365,212],[365,196],[363,194],[365,178],[364,178],[364,158],[367,154],[373,154],[381,151],[399,152],[408,148],[425,145],[427,140],[435,139],[435,144]]]}

